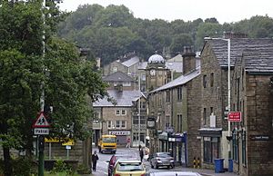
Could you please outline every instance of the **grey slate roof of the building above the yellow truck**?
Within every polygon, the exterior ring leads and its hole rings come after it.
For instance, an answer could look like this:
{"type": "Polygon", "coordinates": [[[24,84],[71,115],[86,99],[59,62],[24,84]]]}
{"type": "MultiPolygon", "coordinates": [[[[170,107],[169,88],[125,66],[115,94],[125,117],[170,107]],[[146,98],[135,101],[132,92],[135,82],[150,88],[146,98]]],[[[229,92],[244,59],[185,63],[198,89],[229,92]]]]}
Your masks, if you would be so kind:
{"type": "Polygon", "coordinates": [[[116,105],[107,101],[107,98],[99,99],[93,103],[93,107],[130,107],[133,105],[133,101],[136,101],[139,97],[145,95],[140,91],[122,91],[118,92],[116,90],[107,91],[110,97],[116,100],[116,105]]]}

